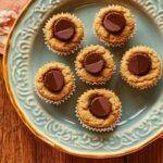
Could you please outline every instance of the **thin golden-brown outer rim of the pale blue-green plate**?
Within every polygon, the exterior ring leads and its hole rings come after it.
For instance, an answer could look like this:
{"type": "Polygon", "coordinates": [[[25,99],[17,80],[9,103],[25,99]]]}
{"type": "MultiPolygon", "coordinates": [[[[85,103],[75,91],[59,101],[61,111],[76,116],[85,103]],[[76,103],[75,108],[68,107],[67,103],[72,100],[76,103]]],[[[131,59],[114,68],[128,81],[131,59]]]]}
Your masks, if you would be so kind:
{"type": "MultiPolygon", "coordinates": [[[[61,0],[60,0],[61,1],[61,0]]],[[[14,33],[14,29],[16,27],[16,25],[18,24],[20,20],[23,17],[23,15],[25,14],[25,12],[27,11],[27,9],[32,5],[34,1],[33,0],[28,0],[27,4],[24,7],[24,9],[22,10],[22,12],[20,13],[17,20],[15,21],[9,36],[8,36],[8,40],[7,40],[7,45],[5,45],[5,49],[4,49],[4,55],[3,55],[3,78],[4,78],[4,83],[5,83],[5,88],[9,95],[9,98],[13,104],[13,106],[15,108],[18,116],[22,118],[22,121],[24,122],[24,124],[29,128],[29,130],[39,139],[43,140],[45,142],[49,143],[50,146],[57,148],[58,150],[61,150],[65,153],[72,154],[72,155],[77,155],[77,156],[83,156],[83,158],[93,158],[93,159],[104,159],[104,158],[115,158],[115,156],[123,156],[126,154],[130,154],[133,152],[139,151],[142,148],[145,148],[146,146],[150,145],[151,142],[153,142],[154,140],[156,140],[159,137],[161,137],[163,135],[163,130],[155,133],[155,135],[151,138],[149,138],[148,140],[146,140],[146,142],[141,142],[141,145],[131,148],[129,150],[123,150],[122,152],[117,153],[83,153],[83,152],[76,152],[74,150],[70,150],[68,148],[61,146],[58,142],[53,142],[51,140],[49,140],[43,134],[41,134],[39,130],[37,130],[34,125],[27,120],[27,116],[22,112],[21,106],[18,105],[14,93],[11,89],[10,83],[9,83],[9,72],[8,72],[8,53],[9,53],[9,49],[10,49],[10,40],[12,38],[12,35],[14,33]]],[[[64,2],[63,0],[61,2],[64,2]]]]}

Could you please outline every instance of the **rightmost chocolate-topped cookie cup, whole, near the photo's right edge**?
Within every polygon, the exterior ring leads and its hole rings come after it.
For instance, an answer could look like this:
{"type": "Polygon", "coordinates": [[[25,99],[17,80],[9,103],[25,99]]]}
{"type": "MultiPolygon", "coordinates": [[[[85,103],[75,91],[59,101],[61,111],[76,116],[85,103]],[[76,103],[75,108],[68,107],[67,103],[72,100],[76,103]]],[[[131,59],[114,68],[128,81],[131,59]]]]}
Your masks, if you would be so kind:
{"type": "Polygon", "coordinates": [[[122,59],[121,74],[122,78],[134,88],[152,87],[161,78],[161,60],[149,47],[134,47],[122,59]]]}

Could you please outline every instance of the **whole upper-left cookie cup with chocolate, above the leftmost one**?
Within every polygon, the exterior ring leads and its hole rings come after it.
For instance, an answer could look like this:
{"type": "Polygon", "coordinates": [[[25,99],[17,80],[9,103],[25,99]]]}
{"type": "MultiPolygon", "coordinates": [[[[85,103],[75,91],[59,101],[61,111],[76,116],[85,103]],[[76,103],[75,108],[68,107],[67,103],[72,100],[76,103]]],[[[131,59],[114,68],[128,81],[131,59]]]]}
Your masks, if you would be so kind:
{"type": "Polygon", "coordinates": [[[78,49],[84,38],[84,25],[73,14],[53,15],[43,28],[46,45],[58,54],[70,54],[78,49]]]}

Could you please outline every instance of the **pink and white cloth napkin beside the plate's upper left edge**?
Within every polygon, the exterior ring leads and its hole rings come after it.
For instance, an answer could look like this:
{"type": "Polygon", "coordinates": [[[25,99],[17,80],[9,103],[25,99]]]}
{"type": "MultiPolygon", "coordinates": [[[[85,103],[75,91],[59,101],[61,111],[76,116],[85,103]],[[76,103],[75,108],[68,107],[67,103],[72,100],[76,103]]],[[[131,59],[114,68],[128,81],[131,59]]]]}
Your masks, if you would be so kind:
{"type": "Polygon", "coordinates": [[[0,53],[3,53],[8,34],[21,9],[28,0],[0,0],[0,53]]]}

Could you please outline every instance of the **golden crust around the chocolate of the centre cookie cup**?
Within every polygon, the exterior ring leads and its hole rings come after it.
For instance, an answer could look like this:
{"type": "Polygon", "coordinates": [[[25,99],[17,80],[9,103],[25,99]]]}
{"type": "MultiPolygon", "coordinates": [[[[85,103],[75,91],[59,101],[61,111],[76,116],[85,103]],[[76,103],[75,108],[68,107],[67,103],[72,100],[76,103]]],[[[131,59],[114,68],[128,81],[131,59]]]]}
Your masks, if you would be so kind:
{"type": "Polygon", "coordinates": [[[105,83],[106,80],[109,80],[111,78],[111,76],[113,75],[114,70],[115,70],[115,64],[114,64],[113,58],[111,55],[111,52],[109,50],[106,50],[104,47],[89,46],[89,47],[84,48],[78,53],[76,61],[75,61],[75,67],[76,67],[76,72],[77,72],[78,76],[83,80],[92,83],[92,84],[96,84],[96,83],[99,84],[99,83],[105,83]],[[105,61],[105,67],[101,72],[101,74],[98,76],[89,74],[83,65],[85,57],[91,51],[100,53],[105,61]]]}

